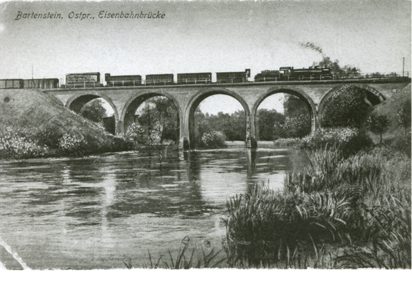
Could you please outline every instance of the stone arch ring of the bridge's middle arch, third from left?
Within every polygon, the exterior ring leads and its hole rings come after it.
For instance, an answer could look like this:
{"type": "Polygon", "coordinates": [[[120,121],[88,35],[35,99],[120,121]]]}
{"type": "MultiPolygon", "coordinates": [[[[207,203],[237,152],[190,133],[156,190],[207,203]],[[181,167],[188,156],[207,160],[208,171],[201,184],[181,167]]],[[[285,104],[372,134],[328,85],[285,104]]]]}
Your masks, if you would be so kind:
{"type": "Polygon", "coordinates": [[[194,113],[196,112],[196,108],[198,108],[198,106],[204,99],[213,95],[227,95],[239,101],[239,103],[242,105],[246,118],[246,140],[251,137],[249,125],[250,110],[247,102],[238,93],[235,93],[231,90],[227,90],[225,88],[206,88],[198,91],[198,93],[196,93],[196,95],[194,95],[192,99],[190,99],[187,107],[185,108],[185,115],[183,117],[183,124],[181,126],[181,143],[183,143],[184,149],[187,149],[189,147],[191,149],[195,148],[194,113]]]}

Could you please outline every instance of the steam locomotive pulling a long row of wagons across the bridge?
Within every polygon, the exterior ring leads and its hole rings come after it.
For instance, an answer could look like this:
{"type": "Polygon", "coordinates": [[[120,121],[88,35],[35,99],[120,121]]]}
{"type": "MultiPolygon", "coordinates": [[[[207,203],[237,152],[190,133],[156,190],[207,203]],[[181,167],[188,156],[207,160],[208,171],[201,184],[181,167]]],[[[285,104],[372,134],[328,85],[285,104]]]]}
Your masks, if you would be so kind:
{"type": "MultiPolygon", "coordinates": [[[[409,77],[409,73],[407,74],[409,77]]],[[[251,70],[241,72],[217,72],[216,82],[211,81],[211,73],[178,73],[176,81],[173,74],[150,74],[142,80],[141,75],[117,75],[110,73],[104,75],[106,84],[100,81],[100,73],[70,73],[66,75],[65,84],[59,85],[57,78],[49,79],[3,79],[0,80],[0,88],[95,88],[95,87],[130,87],[130,86],[164,86],[164,85],[194,85],[194,84],[227,84],[246,83],[251,77],[251,70]]],[[[345,80],[363,78],[395,78],[404,77],[397,73],[381,75],[372,73],[364,75],[355,73],[351,75],[339,75],[332,73],[329,67],[310,66],[308,69],[294,69],[293,67],[281,67],[279,70],[265,70],[254,77],[253,82],[283,82],[283,81],[321,81],[321,80],[345,80]]]]}

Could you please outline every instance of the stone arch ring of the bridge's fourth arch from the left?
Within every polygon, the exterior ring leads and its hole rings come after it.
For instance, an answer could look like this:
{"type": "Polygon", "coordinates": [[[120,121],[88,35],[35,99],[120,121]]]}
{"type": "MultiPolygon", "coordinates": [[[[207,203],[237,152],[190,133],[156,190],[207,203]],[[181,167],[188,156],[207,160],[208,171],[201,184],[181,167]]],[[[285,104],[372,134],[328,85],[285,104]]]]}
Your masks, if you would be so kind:
{"type": "Polygon", "coordinates": [[[313,102],[313,100],[309,97],[308,94],[304,92],[304,90],[301,90],[297,87],[289,88],[288,86],[278,86],[275,88],[270,88],[266,90],[266,92],[259,97],[259,99],[255,102],[253,105],[253,109],[251,112],[251,117],[253,119],[253,133],[256,134],[255,131],[255,120],[256,120],[256,112],[258,112],[258,108],[260,106],[260,103],[266,99],[266,97],[269,97],[271,95],[275,95],[277,93],[285,93],[289,95],[294,95],[295,97],[299,97],[304,103],[306,103],[306,106],[308,106],[309,114],[310,114],[310,120],[312,122],[311,126],[311,132],[314,132],[317,128],[317,109],[316,105],[313,102]]]}

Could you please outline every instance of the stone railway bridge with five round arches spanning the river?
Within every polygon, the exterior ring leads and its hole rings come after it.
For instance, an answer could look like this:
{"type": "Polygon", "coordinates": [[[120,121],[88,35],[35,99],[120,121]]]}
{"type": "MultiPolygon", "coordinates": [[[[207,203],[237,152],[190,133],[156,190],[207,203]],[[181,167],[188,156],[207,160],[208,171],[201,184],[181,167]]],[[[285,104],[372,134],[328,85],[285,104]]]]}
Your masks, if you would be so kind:
{"type": "Polygon", "coordinates": [[[246,113],[247,144],[255,146],[255,114],[262,101],[276,93],[288,93],[301,98],[307,105],[312,119],[312,131],[320,127],[325,101],[331,93],[347,84],[367,90],[372,105],[391,97],[411,83],[411,78],[362,79],[334,81],[262,82],[242,84],[203,84],[171,86],[104,87],[82,89],[45,89],[58,97],[66,108],[80,112],[92,99],[102,97],[115,112],[116,133],[123,134],[134,122],[137,108],[150,97],[164,96],[172,99],[179,113],[179,145],[194,148],[194,112],[198,105],[211,95],[229,95],[237,99],[246,113]]]}

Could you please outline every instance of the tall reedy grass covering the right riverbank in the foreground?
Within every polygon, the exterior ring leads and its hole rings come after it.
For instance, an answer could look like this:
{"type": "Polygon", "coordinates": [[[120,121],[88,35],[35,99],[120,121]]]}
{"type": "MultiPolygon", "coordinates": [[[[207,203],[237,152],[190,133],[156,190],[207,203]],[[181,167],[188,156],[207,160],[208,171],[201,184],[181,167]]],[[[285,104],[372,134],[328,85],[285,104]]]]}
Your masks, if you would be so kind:
{"type": "Polygon", "coordinates": [[[317,149],[284,191],[229,199],[229,264],[411,268],[411,160],[386,152],[317,149]]]}

